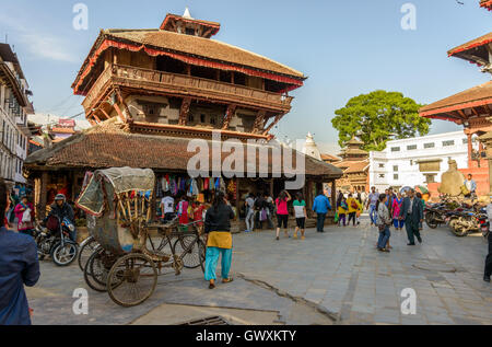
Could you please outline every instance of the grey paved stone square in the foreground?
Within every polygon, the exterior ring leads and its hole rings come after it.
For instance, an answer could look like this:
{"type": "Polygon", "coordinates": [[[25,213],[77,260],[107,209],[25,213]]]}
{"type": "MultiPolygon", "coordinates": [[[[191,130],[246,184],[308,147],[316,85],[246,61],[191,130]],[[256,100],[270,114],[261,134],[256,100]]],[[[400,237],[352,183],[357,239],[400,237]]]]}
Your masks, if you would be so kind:
{"type": "Polygon", "coordinates": [[[77,265],[43,262],[39,284],[27,289],[33,323],[175,324],[186,321],[180,305],[187,305],[200,308],[200,314],[213,308],[210,315],[222,309],[238,324],[492,324],[492,286],[482,280],[483,238],[425,228],[423,244],[407,246],[405,231],[391,230],[388,254],[375,250],[377,230],[367,219],[356,228],[325,230],[307,230],[304,241],[276,241],[273,231],[236,234],[234,282],[209,290],[199,269],[163,275],[154,294],[130,309],[89,289],[77,265]],[[89,315],[72,313],[75,288],[89,290],[89,315]],[[401,313],[405,288],[417,292],[414,315],[401,313]],[[163,314],[173,308],[181,312],[174,321],[163,314]]]}

